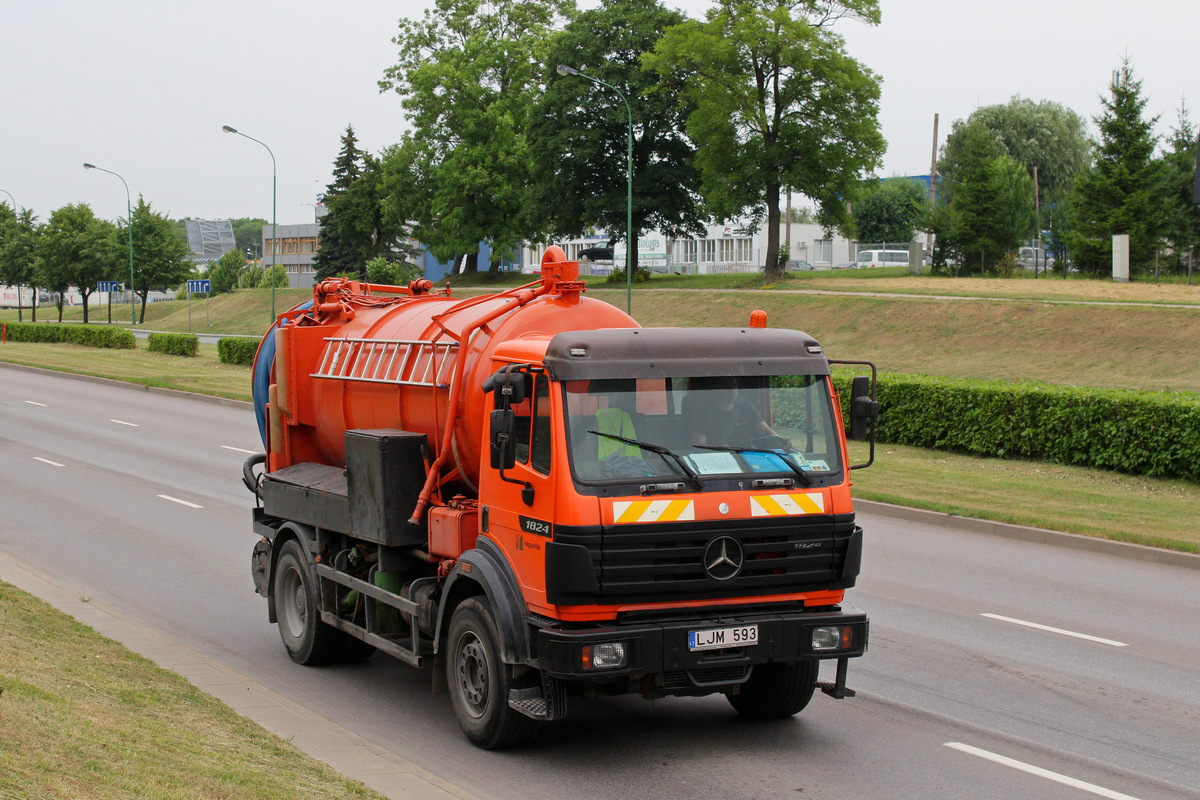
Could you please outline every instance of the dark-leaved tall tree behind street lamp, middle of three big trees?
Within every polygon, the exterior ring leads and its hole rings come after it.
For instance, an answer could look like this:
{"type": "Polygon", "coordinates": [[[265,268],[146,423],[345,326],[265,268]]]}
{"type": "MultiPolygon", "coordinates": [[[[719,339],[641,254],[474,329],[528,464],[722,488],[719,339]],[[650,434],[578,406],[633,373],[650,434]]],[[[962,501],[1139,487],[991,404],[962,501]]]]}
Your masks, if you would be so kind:
{"type": "Polygon", "coordinates": [[[611,89],[577,76],[556,77],[559,64],[617,86],[634,118],[634,241],[646,229],[668,239],[701,234],[704,210],[695,149],[684,136],[690,110],[677,79],[642,70],[641,58],[662,31],[686,19],[658,0],[605,0],[556,34],[546,56],[546,92],[529,126],[534,185],[530,228],[550,235],[608,231],[625,239],[629,116],[611,89]]]}

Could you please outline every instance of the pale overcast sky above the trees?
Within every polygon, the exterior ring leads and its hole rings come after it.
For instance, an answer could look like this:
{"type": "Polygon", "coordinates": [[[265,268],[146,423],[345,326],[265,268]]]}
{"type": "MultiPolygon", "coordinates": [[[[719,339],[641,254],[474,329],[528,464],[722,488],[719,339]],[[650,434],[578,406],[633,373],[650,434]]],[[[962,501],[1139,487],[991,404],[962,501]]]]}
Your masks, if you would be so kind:
{"type": "MultiPolygon", "coordinates": [[[[143,196],[174,218],[313,219],[347,125],[378,152],[401,139],[401,18],[422,0],[6,0],[0,16],[0,201],[41,218],[68,203],[100,217],[143,196]],[[222,132],[229,125],[259,139],[222,132]]],[[[581,7],[595,5],[583,0],[581,7]]],[[[665,0],[700,17],[703,0],[665,0]]],[[[1087,120],[1128,56],[1168,134],[1200,122],[1196,0],[880,0],[882,24],[842,20],[851,55],[882,78],[880,176],[926,174],[954,120],[1015,95],[1087,120]]],[[[1094,126],[1091,126],[1094,132],[1094,126]]]]}

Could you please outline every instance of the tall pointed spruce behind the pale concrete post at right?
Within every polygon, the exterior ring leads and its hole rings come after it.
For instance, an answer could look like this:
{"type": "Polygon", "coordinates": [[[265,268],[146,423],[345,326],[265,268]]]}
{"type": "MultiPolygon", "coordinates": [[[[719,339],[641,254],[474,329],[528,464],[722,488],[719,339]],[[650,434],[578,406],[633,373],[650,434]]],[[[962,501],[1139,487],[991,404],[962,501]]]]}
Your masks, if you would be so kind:
{"type": "Polygon", "coordinates": [[[1166,228],[1165,170],[1154,158],[1158,118],[1144,118],[1146,100],[1128,59],[1112,73],[1109,94],[1093,118],[1100,128],[1096,164],[1076,180],[1069,200],[1072,260],[1096,276],[1112,264],[1114,234],[1129,235],[1133,275],[1153,264],[1166,228]]]}

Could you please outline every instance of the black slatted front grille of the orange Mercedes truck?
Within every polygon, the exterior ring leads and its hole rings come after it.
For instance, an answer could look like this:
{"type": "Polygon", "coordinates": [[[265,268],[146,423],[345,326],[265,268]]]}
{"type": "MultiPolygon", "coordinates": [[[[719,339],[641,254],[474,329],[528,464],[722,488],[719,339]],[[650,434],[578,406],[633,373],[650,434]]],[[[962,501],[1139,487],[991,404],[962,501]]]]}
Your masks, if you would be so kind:
{"type": "MultiPolygon", "coordinates": [[[[600,602],[628,603],[844,588],[854,577],[842,575],[854,531],[854,515],[848,513],[739,521],[737,528],[728,523],[558,527],[554,541],[588,548],[600,602]],[[706,571],[706,549],[720,537],[734,540],[743,554],[740,570],[725,581],[706,571]]],[[[728,543],[728,549],[736,552],[737,546],[728,543]]]]}

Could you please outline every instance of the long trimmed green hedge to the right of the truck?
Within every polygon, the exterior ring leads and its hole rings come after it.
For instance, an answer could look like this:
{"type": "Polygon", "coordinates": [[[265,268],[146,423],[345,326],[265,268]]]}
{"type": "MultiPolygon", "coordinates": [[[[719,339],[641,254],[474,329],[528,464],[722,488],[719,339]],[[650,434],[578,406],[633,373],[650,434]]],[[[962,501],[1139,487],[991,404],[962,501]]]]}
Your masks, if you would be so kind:
{"type": "Polygon", "coordinates": [[[882,443],[1200,481],[1195,395],[884,373],[877,397],[882,443]]]}

